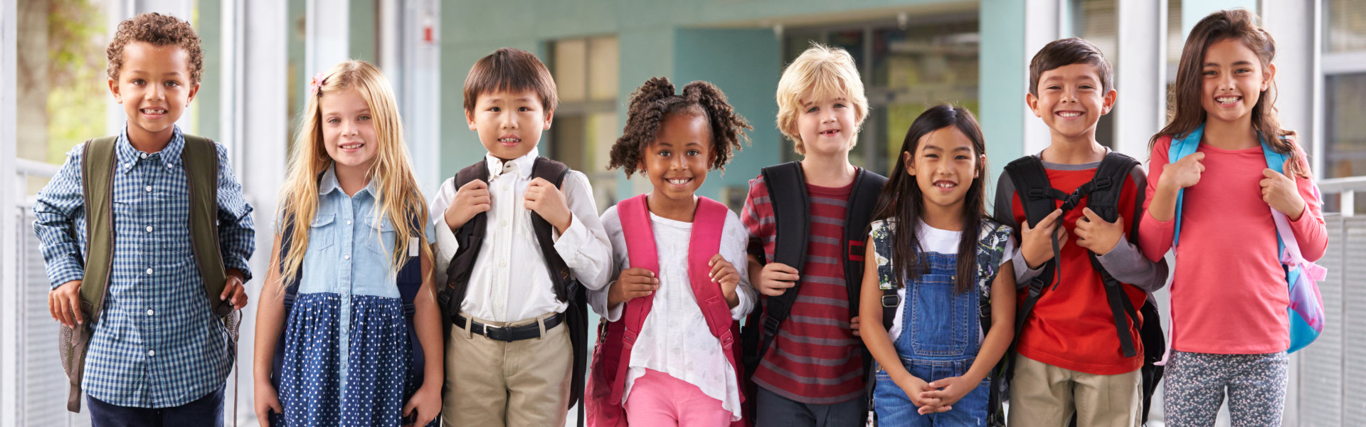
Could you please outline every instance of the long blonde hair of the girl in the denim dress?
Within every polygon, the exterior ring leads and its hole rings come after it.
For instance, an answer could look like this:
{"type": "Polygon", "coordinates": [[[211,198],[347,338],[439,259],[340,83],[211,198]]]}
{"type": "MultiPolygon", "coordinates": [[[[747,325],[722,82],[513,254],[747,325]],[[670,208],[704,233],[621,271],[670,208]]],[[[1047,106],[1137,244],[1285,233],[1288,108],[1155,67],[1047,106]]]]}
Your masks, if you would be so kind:
{"type": "Polygon", "coordinates": [[[428,223],[428,209],[417,179],[413,177],[407,144],[403,142],[403,125],[388,78],[380,73],[380,68],[362,60],[348,60],[332,66],[322,75],[325,77],[321,78],[318,90],[309,96],[307,104],[303,107],[303,120],[299,126],[299,135],[294,141],[290,171],[280,192],[280,222],[276,224],[276,233],[291,227],[294,230],[290,250],[280,255],[284,266],[281,271],[284,283],[294,281],[303,266],[303,253],[309,248],[309,224],[313,223],[318,212],[318,177],[333,163],[322,145],[322,97],[348,89],[355,89],[361,94],[361,99],[370,108],[374,123],[374,142],[378,149],[370,170],[366,172],[370,179],[376,179],[374,198],[378,207],[374,209],[376,220],[382,212],[384,218],[388,218],[393,224],[391,272],[396,274],[407,263],[408,237],[418,237],[422,256],[430,259],[432,249],[428,248],[426,233],[423,233],[428,223]],[[414,230],[414,220],[421,229],[414,230]]]}

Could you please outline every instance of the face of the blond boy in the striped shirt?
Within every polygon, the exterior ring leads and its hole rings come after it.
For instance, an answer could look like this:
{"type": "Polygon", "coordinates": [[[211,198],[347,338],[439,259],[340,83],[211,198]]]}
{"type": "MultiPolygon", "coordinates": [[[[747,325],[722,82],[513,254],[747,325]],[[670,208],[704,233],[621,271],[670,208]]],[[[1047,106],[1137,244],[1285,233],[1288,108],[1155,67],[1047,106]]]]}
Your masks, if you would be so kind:
{"type": "Polygon", "coordinates": [[[802,100],[796,115],[796,131],[802,135],[806,155],[836,155],[848,152],[858,135],[854,105],[844,94],[802,100]]]}

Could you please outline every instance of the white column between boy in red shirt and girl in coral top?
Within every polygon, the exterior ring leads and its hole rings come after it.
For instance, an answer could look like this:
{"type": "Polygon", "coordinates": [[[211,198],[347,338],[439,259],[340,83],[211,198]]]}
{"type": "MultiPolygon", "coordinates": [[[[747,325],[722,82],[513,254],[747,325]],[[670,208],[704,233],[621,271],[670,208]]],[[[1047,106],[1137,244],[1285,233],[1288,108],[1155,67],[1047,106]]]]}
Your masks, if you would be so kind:
{"type": "Polygon", "coordinates": [[[1147,140],[1167,120],[1167,1],[1119,0],[1117,12],[1115,148],[1147,159],[1147,140]]]}

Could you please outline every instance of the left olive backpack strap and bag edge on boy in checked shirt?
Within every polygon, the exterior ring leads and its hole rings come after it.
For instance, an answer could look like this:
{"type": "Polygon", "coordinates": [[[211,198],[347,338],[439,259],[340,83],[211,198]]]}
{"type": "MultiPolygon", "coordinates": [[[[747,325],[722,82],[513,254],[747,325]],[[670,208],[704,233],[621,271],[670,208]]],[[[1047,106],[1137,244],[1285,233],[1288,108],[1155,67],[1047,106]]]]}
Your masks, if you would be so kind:
{"type": "MultiPolygon", "coordinates": [[[[86,212],[85,275],[81,278],[81,313],[85,324],[60,326],[57,353],[67,372],[70,391],[67,411],[81,412],[81,379],[85,376],[85,356],[90,349],[94,324],[100,322],[104,297],[113,274],[113,171],[115,142],[119,137],[102,137],[85,142],[81,153],[81,190],[86,212]]],[[[78,235],[76,230],[71,230],[78,235]]]]}

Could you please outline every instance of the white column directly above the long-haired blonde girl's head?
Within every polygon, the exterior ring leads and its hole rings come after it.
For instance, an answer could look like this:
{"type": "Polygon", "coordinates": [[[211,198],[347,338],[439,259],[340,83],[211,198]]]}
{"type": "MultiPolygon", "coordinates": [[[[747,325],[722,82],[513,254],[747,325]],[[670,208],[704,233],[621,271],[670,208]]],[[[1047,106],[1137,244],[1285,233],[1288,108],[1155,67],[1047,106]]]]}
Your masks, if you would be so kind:
{"type": "MultiPolygon", "coordinates": [[[[320,71],[326,71],[339,62],[351,57],[350,38],[350,1],[307,0],[305,12],[305,48],[303,63],[307,74],[313,78],[320,71]]],[[[284,38],[281,37],[280,41],[284,38]]],[[[280,42],[277,41],[277,42],[280,42]]],[[[305,90],[307,90],[305,82],[305,90]]]]}

